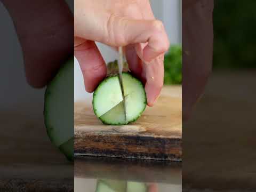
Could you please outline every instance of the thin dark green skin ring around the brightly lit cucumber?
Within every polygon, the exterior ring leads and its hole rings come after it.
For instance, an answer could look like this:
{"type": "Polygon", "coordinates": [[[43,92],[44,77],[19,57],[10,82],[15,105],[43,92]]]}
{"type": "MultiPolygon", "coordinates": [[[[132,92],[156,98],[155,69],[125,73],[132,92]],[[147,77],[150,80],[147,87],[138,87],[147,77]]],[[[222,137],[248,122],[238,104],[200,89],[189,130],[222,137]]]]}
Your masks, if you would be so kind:
{"type": "MultiPolygon", "coordinates": [[[[132,78],[135,78],[135,77],[134,77],[131,73],[129,73],[129,72],[123,72],[123,74],[129,74],[132,78]]],[[[103,82],[106,82],[109,78],[116,77],[116,76],[118,76],[118,74],[116,74],[116,75],[110,75],[110,76],[106,77],[105,79],[103,79],[103,81],[98,85],[98,87],[97,87],[97,88],[95,89],[95,91],[93,92],[92,106],[94,106],[94,99],[95,99],[95,96],[97,95],[97,89],[103,84],[103,82]]],[[[135,79],[137,79],[137,78],[135,78],[135,79]]],[[[141,83],[141,81],[140,81],[139,79],[137,79],[137,81],[138,81],[138,83],[140,83],[140,84],[142,85],[142,87],[144,87],[143,84],[141,83]]],[[[143,110],[141,111],[141,113],[138,115],[137,118],[132,119],[131,121],[129,121],[129,122],[126,123],[126,124],[123,124],[123,123],[111,123],[111,124],[109,124],[109,123],[105,122],[104,120],[102,120],[100,117],[97,116],[97,114],[96,114],[96,109],[94,109],[94,107],[93,107],[93,112],[94,112],[94,114],[100,119],[100,121],[101,121],[103,124],[105,124],[105,125],[127,125],[127,124],[131,124],[131,123],[137,121],[137,120],[140,118],[140,116],[142,115],[142,113],[145,111],[145,109],[146,109],[146,107],[147,107],[147,96],[146,96],[146,92],[144,92],[144,93],[145,93],[145,98],[146,98],[145,107],[143,108],[143,110]]]]}

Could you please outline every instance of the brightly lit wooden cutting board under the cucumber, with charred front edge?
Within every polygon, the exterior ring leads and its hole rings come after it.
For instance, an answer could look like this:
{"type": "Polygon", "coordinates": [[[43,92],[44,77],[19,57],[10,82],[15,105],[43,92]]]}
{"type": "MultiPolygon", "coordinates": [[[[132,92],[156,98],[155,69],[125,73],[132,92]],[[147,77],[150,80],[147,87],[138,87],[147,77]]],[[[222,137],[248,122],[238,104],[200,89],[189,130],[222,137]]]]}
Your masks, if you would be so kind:
{"type": "Polygon", "coordinates": [[[76,102],[75,155],[181,161],[181,106],[181,86],[165,86],[138,121],[112,126],[94,115],[91,101],[76,102]]]}

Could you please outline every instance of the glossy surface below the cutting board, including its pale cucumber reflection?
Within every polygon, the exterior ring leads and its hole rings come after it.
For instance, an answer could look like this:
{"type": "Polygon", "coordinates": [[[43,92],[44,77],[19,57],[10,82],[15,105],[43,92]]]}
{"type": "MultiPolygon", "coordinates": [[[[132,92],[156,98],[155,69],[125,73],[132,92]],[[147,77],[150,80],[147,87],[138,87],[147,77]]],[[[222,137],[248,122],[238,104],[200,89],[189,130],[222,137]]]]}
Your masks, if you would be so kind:
{"type": "Polygon", "coordinates": [[[181,191],[181,163],[76,157],[75,191],[179,192],[181,191]]]}

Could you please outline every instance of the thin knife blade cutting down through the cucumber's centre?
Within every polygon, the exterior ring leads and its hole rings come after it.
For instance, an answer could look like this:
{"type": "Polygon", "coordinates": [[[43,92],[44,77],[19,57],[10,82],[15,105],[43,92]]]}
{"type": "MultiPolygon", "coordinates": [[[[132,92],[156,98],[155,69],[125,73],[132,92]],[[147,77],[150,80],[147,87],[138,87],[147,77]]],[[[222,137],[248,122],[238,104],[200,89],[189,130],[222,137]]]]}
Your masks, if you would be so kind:
{"type": "Polygon", "coordinates": [[[123,47],[119,47],[119,59],[118,59],[118,77],[119,77],[119,84],[121,86],[122,96],[123,96],[123,105],[124,105],[124,118],[126,121],[126,107],[125,107],[125,95],[124,95],[124,85],[123,85],[123,76],[122,71],[124,67],[124,54],[123,54],[123,47]]]}

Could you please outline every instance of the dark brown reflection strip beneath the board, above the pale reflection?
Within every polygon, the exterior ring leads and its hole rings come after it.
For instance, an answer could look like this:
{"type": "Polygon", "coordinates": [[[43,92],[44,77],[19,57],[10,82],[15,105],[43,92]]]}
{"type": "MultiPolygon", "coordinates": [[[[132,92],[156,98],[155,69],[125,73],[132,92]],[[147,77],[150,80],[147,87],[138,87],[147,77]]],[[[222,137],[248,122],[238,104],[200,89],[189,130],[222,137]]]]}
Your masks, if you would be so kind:
{"type": "Polygon", "coordinates": [[[79,157],[75,161],[75,178],[101,178],[181,185],[181,162],[93,156],[79,157]]]}

